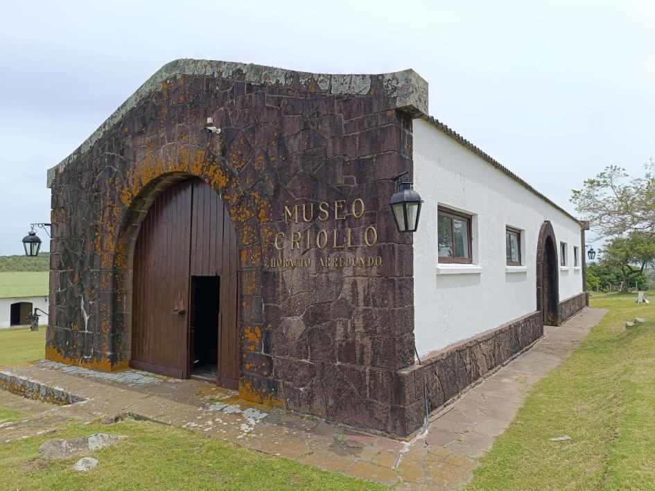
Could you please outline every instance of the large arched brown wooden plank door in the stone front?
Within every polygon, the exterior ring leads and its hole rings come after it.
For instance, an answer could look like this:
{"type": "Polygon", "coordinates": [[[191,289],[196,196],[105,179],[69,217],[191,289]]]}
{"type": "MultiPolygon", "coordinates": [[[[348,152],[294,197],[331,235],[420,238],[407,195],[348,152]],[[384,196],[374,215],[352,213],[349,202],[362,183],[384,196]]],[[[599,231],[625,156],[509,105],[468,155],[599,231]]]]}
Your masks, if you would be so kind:
{"type": "Polygon", "coordinates": [[[234,226],[211,186],[189,179],[164,190],[134,247],[130,366],[236,386],[237,266],[234,226]]]}

